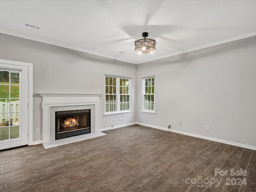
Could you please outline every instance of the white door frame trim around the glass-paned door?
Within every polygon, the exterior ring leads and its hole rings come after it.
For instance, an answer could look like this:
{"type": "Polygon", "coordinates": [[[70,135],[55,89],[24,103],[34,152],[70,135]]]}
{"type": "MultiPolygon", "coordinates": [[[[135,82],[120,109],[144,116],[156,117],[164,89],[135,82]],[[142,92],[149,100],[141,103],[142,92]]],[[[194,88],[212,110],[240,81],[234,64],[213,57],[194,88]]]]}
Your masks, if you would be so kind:
{"type": "Polygon", "coordinates": [[[33,145],[33,64],[2,59],[0,63],[28,67],[28,145],[33,145]]]}

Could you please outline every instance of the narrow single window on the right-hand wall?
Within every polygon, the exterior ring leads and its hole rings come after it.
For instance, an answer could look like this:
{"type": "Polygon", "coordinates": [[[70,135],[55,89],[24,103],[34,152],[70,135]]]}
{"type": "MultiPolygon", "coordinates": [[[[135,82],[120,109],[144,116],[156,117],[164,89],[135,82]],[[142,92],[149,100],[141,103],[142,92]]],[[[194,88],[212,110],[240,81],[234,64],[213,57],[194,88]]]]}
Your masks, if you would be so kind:
{"type": "Polygon", "coordinates": [[[153,112],[155,109],[155,78],[154,76],[142,78],[142,111],[153,112]]]}

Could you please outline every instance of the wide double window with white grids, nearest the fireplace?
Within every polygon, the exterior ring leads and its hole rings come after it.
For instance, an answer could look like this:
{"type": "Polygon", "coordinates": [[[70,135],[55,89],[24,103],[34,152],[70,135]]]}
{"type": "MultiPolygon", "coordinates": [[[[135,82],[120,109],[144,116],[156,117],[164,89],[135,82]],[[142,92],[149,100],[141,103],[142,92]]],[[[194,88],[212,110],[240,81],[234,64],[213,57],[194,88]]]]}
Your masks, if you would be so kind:
{"type": "Polygon", "coordinates": [[[105,114],[130,111],[131,78],[105,75],[105,114]]]}

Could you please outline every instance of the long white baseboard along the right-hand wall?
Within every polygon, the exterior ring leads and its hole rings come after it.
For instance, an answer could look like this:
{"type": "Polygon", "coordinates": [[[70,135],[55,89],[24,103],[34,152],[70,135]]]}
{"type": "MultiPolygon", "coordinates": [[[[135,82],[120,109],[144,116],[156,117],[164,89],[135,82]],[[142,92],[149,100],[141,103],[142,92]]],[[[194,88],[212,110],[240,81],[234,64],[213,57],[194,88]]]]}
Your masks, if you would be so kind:
{"type": "Polygon", "coordinates": [[[238,147],[242,147],[242,148],[256,150],[256,146],[250,146],[250,145],[246,145],[246,144],[242,144],[242,143],[236,143],[236,142],[232,142],[232,141],[226,141],[226,140],[222,140],[222,139],[206,137],[206,136],[202,136],[202,135],[192,134],[192,133],[178,131],[178,130],[173,130],[173,129],[170,130],[168,128],[148,125],[148,124],[144,124],[144,123],[136,122],[136,124],[147,126],[147,127],[151,127],[151,128],[161,129],[161,130],[165,130],[165,131],[169,131],[169,132],[179,133],[179,134],[183,134],[183,135],[188,135],[188,136],[192,136],[192,137],[197,137],[197,138],[201,138],[201,139],[206,139],[206,140],[211,140],[211,141],[215,141],[215,142],[220,142],[220,143],[224,143],[224,144],[234,145],[234,146],[238,146],[238,147]]]}

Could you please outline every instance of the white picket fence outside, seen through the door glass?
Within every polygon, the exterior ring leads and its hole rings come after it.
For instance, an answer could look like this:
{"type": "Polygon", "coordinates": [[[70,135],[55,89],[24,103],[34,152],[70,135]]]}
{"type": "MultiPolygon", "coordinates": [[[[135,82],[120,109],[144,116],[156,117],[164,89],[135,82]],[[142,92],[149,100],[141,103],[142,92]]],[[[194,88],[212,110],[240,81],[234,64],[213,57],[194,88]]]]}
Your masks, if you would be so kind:
{"type": "MultiPolygon", "coordinates": [[[[11,112],[10,120],[11,122],[19,121],[19,113],[13,111],[19,111],[19,101],[11,101],[10,105],[9,102],[0,102],[0,125],[7,124],[9,121],[9,111],[11,112]],[[10,109],[9,109],[10,107],[10,109]],[[3,113],[2,113],[3,112],[3,113]],[[6,113],[5,113],[6,112],[6,113]]],[[[12,125],[12,124],[11,124],[12,125]]]]}

